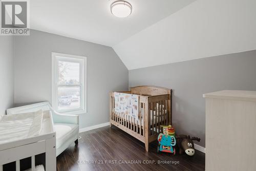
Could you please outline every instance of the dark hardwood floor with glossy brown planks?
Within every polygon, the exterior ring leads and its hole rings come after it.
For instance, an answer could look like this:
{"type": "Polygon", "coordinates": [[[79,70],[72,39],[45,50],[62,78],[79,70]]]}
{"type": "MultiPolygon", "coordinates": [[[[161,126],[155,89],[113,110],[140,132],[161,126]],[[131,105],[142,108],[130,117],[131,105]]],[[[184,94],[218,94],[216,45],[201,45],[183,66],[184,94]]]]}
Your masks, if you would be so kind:
{"type": "Polygon", "coordinates": [[[78,146],[72,145],[57,157],[57,170],[205,170],[205,155],[192,157],[157,153],[157,142],[145,152],[144,144],[115,126],[81,133],[78,146]],[[131,163],[122,163],[131,162],[131,163]],[[134,162],[134,163],[132,163],[134,162]],[[141,164],[138,164],[140,163],[141,164]],[[146,163],[145,163],[146,162],[146,163]],[[151,162],[151,163],[150,163],[151,162]],[[158,162],[169,162],[158,163],[158,162]]]}

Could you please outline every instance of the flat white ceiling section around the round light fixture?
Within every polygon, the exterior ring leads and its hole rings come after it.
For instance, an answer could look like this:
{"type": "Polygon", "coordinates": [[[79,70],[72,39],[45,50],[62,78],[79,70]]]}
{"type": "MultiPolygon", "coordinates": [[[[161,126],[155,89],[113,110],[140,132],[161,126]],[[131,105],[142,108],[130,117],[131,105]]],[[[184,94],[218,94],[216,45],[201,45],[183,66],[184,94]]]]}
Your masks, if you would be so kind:
{"type": "Polygon", "coordinates": [[[114,0],[32,0],[31,29],[114,46],[195,0],[127,0],[127,18],[111,14],[114,0]]]}

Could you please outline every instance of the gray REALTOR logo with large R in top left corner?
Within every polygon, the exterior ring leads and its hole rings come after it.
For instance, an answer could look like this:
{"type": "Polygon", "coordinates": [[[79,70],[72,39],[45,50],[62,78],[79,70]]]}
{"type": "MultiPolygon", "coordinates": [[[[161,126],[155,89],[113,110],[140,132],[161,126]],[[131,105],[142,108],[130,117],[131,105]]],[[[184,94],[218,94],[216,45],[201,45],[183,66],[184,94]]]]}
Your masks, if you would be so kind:
{"type": "Polygon", "coordinates": [[[1,35],[29,35],[27,0],[1,1],[1,35]]]}

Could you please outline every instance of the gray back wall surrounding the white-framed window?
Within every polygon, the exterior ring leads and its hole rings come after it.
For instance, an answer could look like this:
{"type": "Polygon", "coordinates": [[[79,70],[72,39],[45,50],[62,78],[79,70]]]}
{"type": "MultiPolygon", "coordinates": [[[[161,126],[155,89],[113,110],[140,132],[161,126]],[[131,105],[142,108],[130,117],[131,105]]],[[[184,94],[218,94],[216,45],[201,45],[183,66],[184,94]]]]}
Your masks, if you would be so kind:
{"type": "Polygon", "coordinates": [[[80,127],[109,121],[109,92],[127,90],[128,70],[114,50],[73,38],[31,30],[14,38],[16,106],[51,101],[51,52],[87,57],[87,112],[80,127]]]}

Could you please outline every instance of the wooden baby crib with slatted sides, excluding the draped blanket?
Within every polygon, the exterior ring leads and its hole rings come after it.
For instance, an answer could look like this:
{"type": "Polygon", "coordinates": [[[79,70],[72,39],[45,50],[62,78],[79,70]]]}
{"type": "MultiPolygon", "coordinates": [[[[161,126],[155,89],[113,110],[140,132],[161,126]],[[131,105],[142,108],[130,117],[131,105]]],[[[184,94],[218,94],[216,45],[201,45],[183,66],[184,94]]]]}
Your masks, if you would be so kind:
{"type": "Polygon", "coordinates": [[[115,112],[114,92],[110,93],[110,126],[113,124],[124,132],[145,143],[156,140],[162,132],[160,125],[172,124],[172,89],[154,86],[138,86],[131,91],[118,93],[139,95],[138,119],[115,112]]]}

